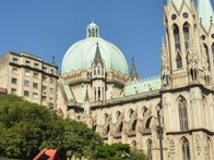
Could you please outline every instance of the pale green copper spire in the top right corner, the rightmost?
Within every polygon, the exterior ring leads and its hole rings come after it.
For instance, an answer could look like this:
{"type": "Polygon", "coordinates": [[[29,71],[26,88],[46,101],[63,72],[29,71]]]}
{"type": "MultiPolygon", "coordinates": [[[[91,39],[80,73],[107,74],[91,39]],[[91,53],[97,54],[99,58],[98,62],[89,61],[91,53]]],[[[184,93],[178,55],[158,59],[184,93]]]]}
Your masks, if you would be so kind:
{"type": "Polygon", "coordinates": [[[209,32],[213,19],[213,7],[210,0],[198,0],[198,15],[201,25],[209,32]]]}

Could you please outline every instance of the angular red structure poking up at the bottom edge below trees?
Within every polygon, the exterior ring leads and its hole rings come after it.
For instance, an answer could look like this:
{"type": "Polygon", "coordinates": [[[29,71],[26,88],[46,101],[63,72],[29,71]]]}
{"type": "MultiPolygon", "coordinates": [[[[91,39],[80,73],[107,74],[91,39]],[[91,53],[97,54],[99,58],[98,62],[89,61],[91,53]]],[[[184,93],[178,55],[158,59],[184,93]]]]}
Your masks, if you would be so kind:
{"type": "Polygon", "coordinates": [[[43,157],[43,160],[60,160],[58,151],[55,149],[44,148],[33,160],[38,160],[43,157]]]}

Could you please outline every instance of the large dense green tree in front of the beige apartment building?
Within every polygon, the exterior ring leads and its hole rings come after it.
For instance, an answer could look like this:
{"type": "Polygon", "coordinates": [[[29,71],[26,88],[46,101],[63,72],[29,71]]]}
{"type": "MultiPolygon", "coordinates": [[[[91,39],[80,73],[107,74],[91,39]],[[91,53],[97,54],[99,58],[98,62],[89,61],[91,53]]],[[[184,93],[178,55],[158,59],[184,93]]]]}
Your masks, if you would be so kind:
{"type": "Polygon", "coordinates": [[[46,107],[13,95],[0,95],[0,157],[33,159],[43,148],[90,157],[102,138],[86,124],[64,120],[46,107]]]}

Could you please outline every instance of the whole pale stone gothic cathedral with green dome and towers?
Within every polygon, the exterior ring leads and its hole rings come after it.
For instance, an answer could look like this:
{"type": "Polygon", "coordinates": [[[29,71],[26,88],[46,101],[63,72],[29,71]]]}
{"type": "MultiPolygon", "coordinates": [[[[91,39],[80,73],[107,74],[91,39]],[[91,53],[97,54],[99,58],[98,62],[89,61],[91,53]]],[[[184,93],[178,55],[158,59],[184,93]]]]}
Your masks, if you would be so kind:
{"type": "Polygon", "coordinates": [[[63,57],[57,112],[85,122],[107,144],[130,144],[148,160],[213,160],[211,1],[166,1],[164,27],[159,76],[141,79],[134,61],[129,70],[120,49],[92,22],[86,38],[63,57]]]}

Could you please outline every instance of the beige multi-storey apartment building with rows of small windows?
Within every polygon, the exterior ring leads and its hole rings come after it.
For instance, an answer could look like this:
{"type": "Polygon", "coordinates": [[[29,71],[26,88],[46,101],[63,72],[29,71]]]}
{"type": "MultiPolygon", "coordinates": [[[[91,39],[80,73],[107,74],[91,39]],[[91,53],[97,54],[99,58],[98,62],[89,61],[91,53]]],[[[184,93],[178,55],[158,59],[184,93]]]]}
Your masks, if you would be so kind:
{"type": "Polygon", "coordinates": [[[41,106],[56,107],[58,67],[25,52],[0,57],[0,88],[41,106]]]}

